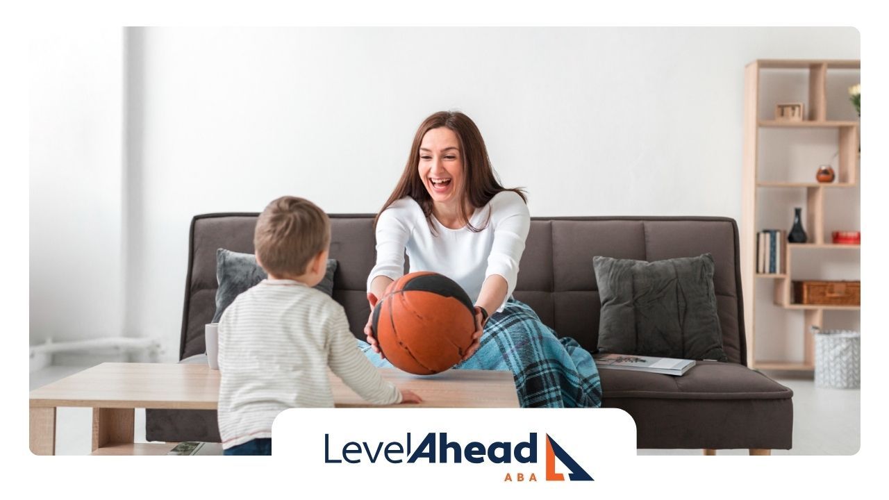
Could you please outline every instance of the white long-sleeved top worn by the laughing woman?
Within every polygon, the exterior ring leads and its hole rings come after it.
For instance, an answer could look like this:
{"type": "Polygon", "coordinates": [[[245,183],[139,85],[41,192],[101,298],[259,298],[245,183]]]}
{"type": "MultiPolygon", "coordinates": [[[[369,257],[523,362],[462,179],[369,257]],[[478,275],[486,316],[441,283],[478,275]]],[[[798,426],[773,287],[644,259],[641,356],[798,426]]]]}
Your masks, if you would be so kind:
{"type": "MultiPolygon", "coordinates": [[[[469,217],[473,226],[484,228],[479,232],[467,227],[446,228],[435,215],[429,221],[437,234],[429,227],[423,209],[410,197],[396,200],[380,214],[376,230],[377,265],[367,278],[368,291],[373,278],[402,277],[406,253],[410,272],[428,270],[444,274],[462,286],[473,303],[477,302],[485,279],[493,274],[506,279],[507,299],[512,296],[518,262],[531,227],[528,206],[517,193],[501,191],[469,217]]],[[[505,305],[506,300],[498,310],[505,305]]]]}

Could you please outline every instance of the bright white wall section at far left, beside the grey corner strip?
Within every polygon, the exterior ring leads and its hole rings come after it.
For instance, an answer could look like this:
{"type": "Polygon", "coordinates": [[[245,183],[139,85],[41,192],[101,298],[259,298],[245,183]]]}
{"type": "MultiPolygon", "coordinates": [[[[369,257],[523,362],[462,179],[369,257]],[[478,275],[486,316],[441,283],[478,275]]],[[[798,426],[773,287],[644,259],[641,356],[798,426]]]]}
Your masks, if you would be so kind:
{"type": "Polygon", "coordinates": [[[30,49],[30,342],[122,335],[124,30],[30,49]]]}

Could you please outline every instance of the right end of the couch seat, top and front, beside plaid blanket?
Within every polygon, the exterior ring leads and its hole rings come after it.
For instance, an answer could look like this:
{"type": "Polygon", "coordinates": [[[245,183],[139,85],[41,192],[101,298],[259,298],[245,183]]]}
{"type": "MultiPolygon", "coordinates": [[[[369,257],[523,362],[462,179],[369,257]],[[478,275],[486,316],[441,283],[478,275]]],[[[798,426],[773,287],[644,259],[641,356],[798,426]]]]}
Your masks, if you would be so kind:
{"type": "Polygon", "coordinates": [[[698,361],[685,375],[599,370],[602,407],[636,422],[637,448],[793,446],[793,391],[735,363],[698,361]]]}

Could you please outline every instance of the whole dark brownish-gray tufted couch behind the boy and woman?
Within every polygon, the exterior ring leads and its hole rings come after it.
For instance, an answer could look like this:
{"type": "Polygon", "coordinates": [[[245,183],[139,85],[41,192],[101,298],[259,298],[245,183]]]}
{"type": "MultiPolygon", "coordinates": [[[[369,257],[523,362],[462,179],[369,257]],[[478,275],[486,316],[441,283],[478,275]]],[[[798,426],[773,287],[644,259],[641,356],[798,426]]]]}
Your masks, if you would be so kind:
{"type": "MultiPolygon", "coordinates": [[[[215,309],[216,249],[252,253],[258,214],[197,215],[191,222],[180,359],[204,353],[215,309]]],[[[333,298],[358,338],[370,313],[365,281],[374,263],[373,216],[331,215],[333,298]]],[[[515,296],[557,335],[589,351],[598,338],[593,256],[657,261],[713,254],[727,363],[701,361],[682,377],[602,370],[604,406],[632,415],[638,448],[789,449],[793,395],[747,368],[738,228],[719,217],[535,217],[515,296]]],[[[203,361],[203,360],[202,360],[203,361]]],[[[219,441],[215,411],[147,410],[148,440],[219,441]]],[[[601,431],[601,430],[600,430],[601,431]]]]}

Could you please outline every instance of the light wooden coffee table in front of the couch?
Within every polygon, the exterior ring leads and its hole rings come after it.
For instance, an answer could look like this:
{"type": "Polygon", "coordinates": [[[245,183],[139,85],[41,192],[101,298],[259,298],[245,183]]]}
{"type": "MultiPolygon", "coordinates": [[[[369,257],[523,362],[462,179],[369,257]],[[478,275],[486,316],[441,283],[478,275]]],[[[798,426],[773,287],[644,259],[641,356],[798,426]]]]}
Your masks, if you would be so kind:
{"type": "MultiPolygon", "coordinates": [[[[380,375],[424,399],[396,407],[518,407],[509,371],[448,370],[429,376],[379,368],[380,375]]],[[[372,407],[335,375],[336,407],[372,407]]],[[[92,455],[165,455],[172,446],[133,443],[135,408],[214,410],[219,370],[198,364],[102,363],[30,392],[30,448],[55,454],[56,407],[92,407],[92,455]]]]}

